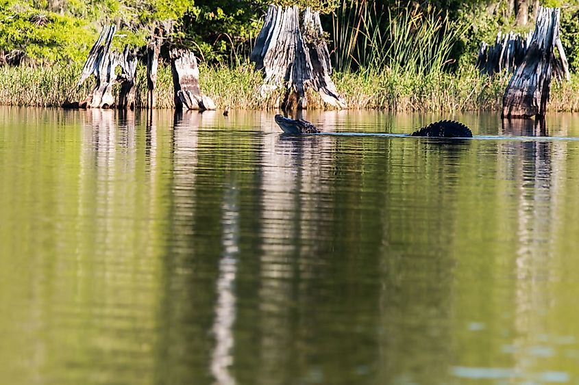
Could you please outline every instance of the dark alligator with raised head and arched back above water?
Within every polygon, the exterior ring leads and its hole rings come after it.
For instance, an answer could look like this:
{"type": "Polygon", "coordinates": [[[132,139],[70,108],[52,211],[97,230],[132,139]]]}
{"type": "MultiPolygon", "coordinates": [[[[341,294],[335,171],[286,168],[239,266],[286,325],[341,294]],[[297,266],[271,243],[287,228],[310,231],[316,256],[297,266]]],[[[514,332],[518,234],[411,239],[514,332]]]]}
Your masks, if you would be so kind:
{"type": "MultiPolygon", "coordinates": [[[[275,115],[275,122],[281,127],[282,131],[287,134],[298,135],[308,133],[321,133],[320,129],[314,124],[304,119],[290,119],[278,114],[275,115]]],[[[428,137],[472,137],[471,130],[463,123],[454,120],[440,120],[428,124],[426,127],[417,129],[409,136],[428,136],[428,137]]]]}

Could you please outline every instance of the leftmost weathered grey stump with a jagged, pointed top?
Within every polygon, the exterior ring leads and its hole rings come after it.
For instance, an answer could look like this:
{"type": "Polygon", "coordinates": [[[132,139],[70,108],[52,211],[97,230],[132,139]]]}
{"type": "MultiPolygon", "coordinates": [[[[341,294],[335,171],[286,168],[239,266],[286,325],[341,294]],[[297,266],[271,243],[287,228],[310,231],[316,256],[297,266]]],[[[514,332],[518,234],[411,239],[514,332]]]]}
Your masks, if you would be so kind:
{"type": "Polygon", "coordinates": [[[114,105],[112,86],[121,83],[118,107],[134,108],[136,57],[128,47],[123,53],[111,49],[112,38],[116,31],[114,25],[103,27],[97,42],[90,49],[82,68],[77,86],[82,85],[90,75],[95,75],[97,83],[85,101],[75,107],[109,108],[114,105]],[[116,75],[116,66],[121,67],[121,74],[116,75]]]}

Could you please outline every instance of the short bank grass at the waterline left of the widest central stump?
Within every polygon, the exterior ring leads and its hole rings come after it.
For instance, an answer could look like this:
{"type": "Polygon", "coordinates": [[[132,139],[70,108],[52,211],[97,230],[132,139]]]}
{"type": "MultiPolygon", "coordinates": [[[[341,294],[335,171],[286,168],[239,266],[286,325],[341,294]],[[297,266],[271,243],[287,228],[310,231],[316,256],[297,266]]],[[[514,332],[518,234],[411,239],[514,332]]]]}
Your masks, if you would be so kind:
{"type": "MultiPolygon", "coordinates": [[[[0,105],[31,107],[58,107],[68,99],[82,101],[95,85],[92,77],[81,87],[76,87],[81,66],[3,66],[0,67],[0,105]],[[91,81],[92,80],[92,81],[91,81]]],[[[208,66],[201,64],[199,82],[201,90],[221,108],[229,105],[236,109],[267,109],[275,105],[278,94],[262,99],[258,88],[262,75],[254,70],[248,60],[238,66],[208,66]]],[[[119,86],[113,88],[118,96],[119,86]]],[[[155,90],[158,108],[173,108],[173,79],[171,68],[160,65],[155,90]]],[[[136,106],[147,103],[146,69],[137,67],[136,106]]]]}

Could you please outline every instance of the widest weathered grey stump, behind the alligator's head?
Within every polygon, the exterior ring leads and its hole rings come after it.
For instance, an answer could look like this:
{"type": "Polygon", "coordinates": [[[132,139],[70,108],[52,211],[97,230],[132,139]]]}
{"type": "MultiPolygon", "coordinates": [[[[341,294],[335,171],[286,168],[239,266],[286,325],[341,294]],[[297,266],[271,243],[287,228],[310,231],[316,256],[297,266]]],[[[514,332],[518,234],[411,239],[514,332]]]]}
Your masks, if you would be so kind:
{"type": "Polygon", "coordinates": [[[323,39],[318,12],[296,6],[269,5],[263,27],[250,59],[264,70],[262,97],[282,86],[286,90],[282,107],[305,109],[308,88],[319,92],[325,103],[347,108],[330,75],[330,54],[323,39]]]}

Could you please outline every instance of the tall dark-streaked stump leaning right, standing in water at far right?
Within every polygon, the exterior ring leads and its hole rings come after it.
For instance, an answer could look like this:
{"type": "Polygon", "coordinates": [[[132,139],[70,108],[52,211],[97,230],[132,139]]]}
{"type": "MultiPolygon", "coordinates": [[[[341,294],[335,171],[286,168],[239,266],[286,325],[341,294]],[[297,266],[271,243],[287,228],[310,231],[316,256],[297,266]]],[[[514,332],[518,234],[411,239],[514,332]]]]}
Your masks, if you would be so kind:
{"type": "Polygon", "coordinates": [[[554,47],[559,34],[559,17],[558,8],[539,8],[525,59],[511,77],[503,96],[503,117],[545,116],[551,89],[554,47]]]}

